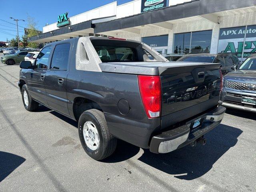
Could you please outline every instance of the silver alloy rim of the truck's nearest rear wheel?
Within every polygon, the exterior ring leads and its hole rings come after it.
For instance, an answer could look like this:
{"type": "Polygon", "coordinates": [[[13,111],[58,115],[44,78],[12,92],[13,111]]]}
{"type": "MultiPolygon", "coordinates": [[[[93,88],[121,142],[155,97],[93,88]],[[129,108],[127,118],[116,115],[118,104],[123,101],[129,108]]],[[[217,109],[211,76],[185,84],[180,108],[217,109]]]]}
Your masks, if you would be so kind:
{"type": "Polygon", "coordinates": [[[96,126],[91,122],[87,121],[83,128],[84,141],[88,148],[96,150],[99,147],[100,137],[96,126]]]}

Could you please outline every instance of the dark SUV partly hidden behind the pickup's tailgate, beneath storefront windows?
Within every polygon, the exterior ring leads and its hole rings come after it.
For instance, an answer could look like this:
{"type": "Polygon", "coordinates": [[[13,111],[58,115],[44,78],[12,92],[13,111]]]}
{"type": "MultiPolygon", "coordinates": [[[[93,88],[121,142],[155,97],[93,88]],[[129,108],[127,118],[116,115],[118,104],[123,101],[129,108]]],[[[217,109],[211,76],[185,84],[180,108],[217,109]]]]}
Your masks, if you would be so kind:
{"type": "Polygon", "coordinates": [[[232,53],[187,54],[178,59],[178,61],[220,63],[220,70],[223,75],[234,71],[234,68],[240,64],[238,57],[232,53]]]}

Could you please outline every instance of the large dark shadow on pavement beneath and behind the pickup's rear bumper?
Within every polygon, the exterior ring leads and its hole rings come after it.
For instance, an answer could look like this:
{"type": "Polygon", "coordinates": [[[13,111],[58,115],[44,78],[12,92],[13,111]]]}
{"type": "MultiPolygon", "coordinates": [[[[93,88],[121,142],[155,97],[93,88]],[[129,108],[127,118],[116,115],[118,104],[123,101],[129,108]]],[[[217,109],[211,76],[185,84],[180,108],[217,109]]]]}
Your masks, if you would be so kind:
{"type": "MultiPolygon", "coordinates": [[[[206,174],[213,164],[231,147],[235,146],[242,130],[220,124],[205,135],[206,145],[190,145],[167,154],[154,154],[144,149],[138,160],[162,172],[184,180],[193,180],[206,174]]],[[[114,163],[127,160],[138,153],[140,148],[120,142],[117,151],[104,162],[114,163]],[[121,144],[121,145],[120,145],[121,144]],[[125,150],[124,150],[125,149],[125,150]]],[[[142,170],[143,172],[143,170],[142,170]]]]}

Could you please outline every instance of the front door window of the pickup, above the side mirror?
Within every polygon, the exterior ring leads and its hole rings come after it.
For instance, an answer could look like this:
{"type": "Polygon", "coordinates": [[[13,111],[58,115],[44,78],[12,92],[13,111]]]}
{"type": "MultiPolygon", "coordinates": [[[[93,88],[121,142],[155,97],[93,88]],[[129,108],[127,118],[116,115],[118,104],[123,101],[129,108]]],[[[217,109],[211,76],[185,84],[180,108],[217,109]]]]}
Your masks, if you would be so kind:
{"type": "Polygon", "coordinates": [[[47,69],[51,46],[42,49],[35,61],[35,69],[47,69]]]}

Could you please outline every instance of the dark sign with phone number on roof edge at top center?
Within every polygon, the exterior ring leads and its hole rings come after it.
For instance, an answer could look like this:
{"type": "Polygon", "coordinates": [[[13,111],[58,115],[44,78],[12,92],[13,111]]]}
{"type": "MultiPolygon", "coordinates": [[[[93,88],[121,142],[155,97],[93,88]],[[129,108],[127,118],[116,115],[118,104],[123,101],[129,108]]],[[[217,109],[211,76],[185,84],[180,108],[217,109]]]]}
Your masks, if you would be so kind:
{"type": "Polygon", "coordinates": [[[167,6],[167,0],[141,0],[141,12],[153,11],[167,6]]]}

